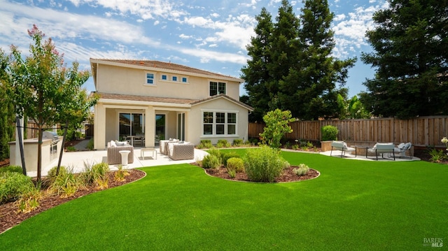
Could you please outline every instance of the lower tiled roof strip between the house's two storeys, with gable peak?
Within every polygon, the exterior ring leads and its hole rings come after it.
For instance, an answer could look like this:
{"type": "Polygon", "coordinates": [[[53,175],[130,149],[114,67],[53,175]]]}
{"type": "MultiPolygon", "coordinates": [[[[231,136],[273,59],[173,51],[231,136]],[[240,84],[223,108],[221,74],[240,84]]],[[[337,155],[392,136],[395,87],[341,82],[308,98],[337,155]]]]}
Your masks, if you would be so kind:
{"type": "Polygon", "coordinates": [[[158,96],[138,96],[138,95],[127,95],[127,94],[111,94],[104,92],[97,92],[99,95],[99,99],[108,99],[113,101],[136,101],[143,103],[160,103],[160,104],[173,104],[177,106],[195,106],[200,103],[205,103],[208,101],[216,100],[216,99],[227,99],[233,103],[236,103],[239,106],[242,106],[250,111],[253,111],[251,106],[246,105],[241,101],[237,101],[236,99],[232,99],[230,96],[225,94],[218,94],[215,96],[210,96],[206,99],[178,99],[178,98],[165,98],[158,96]]]}

